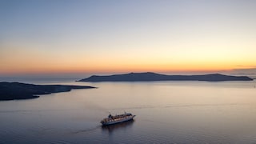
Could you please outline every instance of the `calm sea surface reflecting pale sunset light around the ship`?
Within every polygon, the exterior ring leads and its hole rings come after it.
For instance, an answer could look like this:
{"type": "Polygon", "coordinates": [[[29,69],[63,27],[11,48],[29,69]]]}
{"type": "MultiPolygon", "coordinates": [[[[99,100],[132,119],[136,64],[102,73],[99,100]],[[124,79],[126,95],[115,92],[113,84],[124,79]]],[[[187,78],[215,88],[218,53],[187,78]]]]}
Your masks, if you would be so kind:
{"type": "Polygon", "coordinates": [[[256,143],[256,82],[57,83],[98,89],[0,102],[0,143],[256,143]]]}

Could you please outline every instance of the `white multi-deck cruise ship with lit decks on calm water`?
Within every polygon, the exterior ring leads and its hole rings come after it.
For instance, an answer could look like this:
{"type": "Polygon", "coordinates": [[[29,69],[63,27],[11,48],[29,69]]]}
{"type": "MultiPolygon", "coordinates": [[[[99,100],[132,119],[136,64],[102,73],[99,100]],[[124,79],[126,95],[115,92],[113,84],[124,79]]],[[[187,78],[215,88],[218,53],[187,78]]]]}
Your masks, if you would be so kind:
{"type": "Polygon", "coordinates": [[[108,118],[102,119],[101,123],[102,123],[102,126],[113,125],[113,124],[120,123],[120,122],[130,121],[134,117],[135,117],[135,115],[126,113],[126,112],[125,112],[125,114],[118,114],[115,116],[110,114],[108,118]]]}

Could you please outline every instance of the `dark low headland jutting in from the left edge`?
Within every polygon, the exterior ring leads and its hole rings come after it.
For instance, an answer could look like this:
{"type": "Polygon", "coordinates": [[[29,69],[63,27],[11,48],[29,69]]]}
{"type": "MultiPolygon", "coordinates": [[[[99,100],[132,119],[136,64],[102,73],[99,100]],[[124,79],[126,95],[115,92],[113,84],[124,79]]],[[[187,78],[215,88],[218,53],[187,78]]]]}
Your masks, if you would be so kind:
{"type": "Polygon", "coordinates": [[[19,82],[0,82],[0,100],[38,98],[38,94],[66,92],[72,89],[91,89],[93,86],[33,85],[19,82]]]}

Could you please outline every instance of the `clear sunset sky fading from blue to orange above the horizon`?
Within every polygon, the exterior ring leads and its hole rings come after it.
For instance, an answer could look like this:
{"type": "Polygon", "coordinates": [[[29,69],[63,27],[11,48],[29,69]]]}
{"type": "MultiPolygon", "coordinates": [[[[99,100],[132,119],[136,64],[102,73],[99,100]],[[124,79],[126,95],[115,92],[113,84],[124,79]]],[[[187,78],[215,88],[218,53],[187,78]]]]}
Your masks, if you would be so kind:
{"type": "Polygon", "coordinates": [[[254,0],[0,0],[0,76],[256,73],[254,0]]]}

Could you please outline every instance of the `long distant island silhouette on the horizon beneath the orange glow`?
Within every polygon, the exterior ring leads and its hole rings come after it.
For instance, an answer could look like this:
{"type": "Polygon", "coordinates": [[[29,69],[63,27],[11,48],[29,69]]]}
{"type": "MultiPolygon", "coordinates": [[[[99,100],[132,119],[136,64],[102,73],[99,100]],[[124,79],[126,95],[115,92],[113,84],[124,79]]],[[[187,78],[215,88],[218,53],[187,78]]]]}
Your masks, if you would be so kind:
{"type": "Polygon", "coordinates": [[[247,76],[231,76],[224,74],[203,74],[203,75],[166,75],[156,73],[130,73],[114,74],[106,76],[93,75],[78,82],[150,82],[150,81],[252,81],[247,76]]]}

